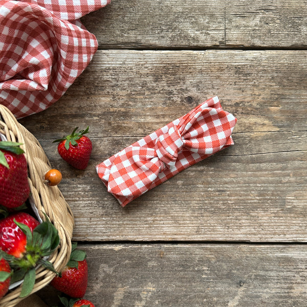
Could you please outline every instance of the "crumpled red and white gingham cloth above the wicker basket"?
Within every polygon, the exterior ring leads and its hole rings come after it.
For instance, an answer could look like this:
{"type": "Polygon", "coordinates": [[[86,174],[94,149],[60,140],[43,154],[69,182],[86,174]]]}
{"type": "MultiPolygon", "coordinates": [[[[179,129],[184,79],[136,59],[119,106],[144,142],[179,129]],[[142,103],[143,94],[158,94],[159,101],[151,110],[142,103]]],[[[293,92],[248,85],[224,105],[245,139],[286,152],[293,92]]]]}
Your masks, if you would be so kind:
{"type": "Polygon", "coordinates": [[[43,111],[97,50],[81,16],[111,0],[0,0],[0,103],[16,118],[43,111]]]}

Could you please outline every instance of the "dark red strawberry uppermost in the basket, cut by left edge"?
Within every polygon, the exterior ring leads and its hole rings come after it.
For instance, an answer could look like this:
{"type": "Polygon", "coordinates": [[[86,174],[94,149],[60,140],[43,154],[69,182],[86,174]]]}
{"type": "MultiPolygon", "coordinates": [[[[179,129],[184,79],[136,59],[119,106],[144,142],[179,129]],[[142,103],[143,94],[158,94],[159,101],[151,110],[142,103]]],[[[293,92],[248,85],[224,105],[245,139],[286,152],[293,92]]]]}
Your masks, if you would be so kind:
{"type": "Polygon", "coordinates": [[[21,143],[0,142],[0,204],[16,208],[28,199],[27,160],[21,143]]]}

